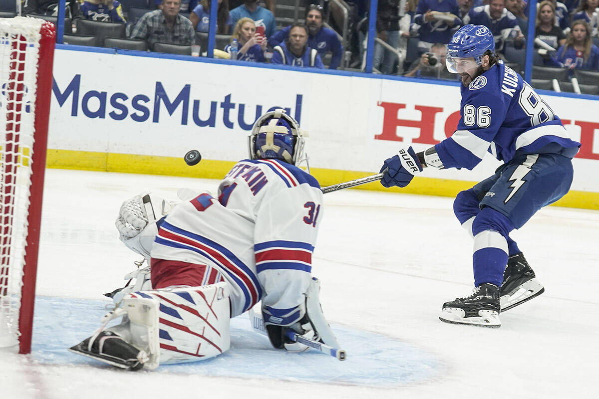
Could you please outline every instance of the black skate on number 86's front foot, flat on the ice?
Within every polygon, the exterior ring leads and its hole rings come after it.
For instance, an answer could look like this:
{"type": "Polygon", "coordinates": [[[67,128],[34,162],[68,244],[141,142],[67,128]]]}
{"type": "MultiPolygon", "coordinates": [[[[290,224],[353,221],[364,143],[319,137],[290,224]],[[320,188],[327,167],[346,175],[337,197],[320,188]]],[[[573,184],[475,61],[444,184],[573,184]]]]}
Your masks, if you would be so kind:
{"type": "Polygon", "coordinates": [[[501,327],[499,312],[499,287],[485,282],[471,296],[444,303],[439,319],[452,324],[498,328],[501,327]]]}

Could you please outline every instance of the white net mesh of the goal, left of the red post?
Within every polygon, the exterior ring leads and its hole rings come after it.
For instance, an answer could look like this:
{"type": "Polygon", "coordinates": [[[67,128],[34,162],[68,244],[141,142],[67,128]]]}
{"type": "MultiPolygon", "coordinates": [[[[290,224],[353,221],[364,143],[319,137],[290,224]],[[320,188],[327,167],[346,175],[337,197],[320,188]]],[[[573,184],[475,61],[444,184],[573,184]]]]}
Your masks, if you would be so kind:
{"type": "Polygon", "coordinates": [[[43,20],[0,19],[0,346],[18,343],[43,20]]]}

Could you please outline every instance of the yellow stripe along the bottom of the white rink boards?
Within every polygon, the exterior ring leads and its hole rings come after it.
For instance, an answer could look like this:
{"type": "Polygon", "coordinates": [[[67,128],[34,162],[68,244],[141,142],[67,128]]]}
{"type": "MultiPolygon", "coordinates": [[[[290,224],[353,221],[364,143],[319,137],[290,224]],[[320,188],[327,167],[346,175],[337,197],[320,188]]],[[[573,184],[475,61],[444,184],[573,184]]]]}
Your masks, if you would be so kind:
{"type": "MultiPolygon", "coordinates": [[[[48,150],[47,167],[55,169],[97,170],[101,172],[143,173],[203,179],[222,179],[235,162],[202,159],[198,165],[187,166],[181,157],[161,157],[134,154],[96,153],[92,151],[48,150]]],[[[372,172],[350,172],[337,169],[311,168],[312,175],[322,187],[362,178],[372,172]]],[[[476,182],[462,180],[417,178],[406,188],[385,188],[379,182],[355,188],[407,194],[455,197],[476,182]]],[[[599,193],[571,190],[553,205],[568,208],[599,209],[599,193]]]]}

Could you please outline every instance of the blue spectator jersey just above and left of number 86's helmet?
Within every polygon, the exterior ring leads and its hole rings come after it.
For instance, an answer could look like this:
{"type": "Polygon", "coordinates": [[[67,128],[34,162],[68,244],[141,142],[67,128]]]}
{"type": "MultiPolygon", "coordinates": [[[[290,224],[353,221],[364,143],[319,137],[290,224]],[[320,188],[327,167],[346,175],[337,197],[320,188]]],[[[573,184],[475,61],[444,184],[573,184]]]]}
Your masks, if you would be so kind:
{"type": "Polygon", "coordinates": [[[418,29],[420,41],[427,43],[449,43],[453,33],[455,33],[455,30],[462,23],[459,15],[458,3],[455,0],[420,0],[414,16],[414,23],[420,26],[418,29]],[[429,10],[453,14],[455,16],[453,26],[450,28],[446,22],[441,20],[425,22],[424,14],[429,10]]]}

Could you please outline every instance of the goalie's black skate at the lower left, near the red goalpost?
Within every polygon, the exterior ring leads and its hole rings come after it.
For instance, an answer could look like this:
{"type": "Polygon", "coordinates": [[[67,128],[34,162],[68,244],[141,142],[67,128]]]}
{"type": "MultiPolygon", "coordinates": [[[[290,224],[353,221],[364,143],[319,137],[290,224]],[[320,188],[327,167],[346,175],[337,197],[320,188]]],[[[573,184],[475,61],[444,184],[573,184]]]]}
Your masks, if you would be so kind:
{"type": "Polygon", "coordinates": [[[149,360],[146,351],[140,351],[112,331],[99,333],[93,341],[91,351],[89,350],[90,339],[92,337],[72,346],[69,351],[126,370],[140,370],[149,360]]]}

